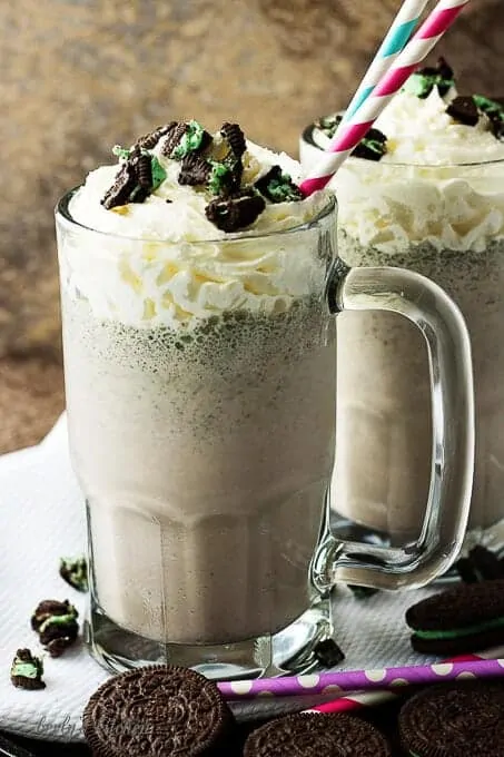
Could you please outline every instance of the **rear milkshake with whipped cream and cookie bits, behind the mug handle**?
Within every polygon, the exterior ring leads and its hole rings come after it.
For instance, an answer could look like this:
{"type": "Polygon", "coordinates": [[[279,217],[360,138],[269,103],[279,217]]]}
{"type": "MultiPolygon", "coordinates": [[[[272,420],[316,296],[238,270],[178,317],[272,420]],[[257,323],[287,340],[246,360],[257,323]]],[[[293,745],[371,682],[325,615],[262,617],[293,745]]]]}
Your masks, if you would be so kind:
{"type": "MultiPolygon", "coordinates": [[[[338,121],[320,119],[305,132],[305,166],[338,121]]],[[[492,527],[504,519],[503,138],[504,109],[482,96],[459,96],[441,60],[411,77],[332,184],[339,254],[349,265],[413,269],[461,307],[476,401],[470,528],[490,529],[495,539],[492,527]]],[[[333,505],[395,542],[419,533],[429,403],[425,346],[411,324],[394,314],[343,314],[333,505]]]]}

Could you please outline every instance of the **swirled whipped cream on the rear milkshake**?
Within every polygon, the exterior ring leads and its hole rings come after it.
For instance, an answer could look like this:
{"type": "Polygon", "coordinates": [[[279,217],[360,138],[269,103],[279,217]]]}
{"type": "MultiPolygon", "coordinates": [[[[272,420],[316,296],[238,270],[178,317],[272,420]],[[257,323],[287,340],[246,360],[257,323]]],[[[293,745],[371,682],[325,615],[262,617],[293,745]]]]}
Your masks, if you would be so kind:
{"type": "MultiPolygon", "coordinates": [[[[504,237],[504,141],[484,115],[474,127],[448,116],[455,96],[398,92],[375,125],[387,137],[382,160],[350,158],[332,180],[340,228],[360,245],[483,252],[504,237]]],[[[313,139],[323,149],[328,141],[316,128],[313,139]]],[[[315,148],[303,147],[307,170],[315,148]]]]}

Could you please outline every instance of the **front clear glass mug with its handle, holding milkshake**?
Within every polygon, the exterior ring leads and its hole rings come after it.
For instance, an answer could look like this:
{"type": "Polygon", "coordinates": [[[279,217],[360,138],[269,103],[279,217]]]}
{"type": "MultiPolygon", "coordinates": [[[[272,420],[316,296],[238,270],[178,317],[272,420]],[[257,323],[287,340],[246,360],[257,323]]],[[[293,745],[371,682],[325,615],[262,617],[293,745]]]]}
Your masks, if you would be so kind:
{"type": "Polygon", "coordinates": [[[95,658],[115,671],[169,662],[219,679],[299,670],[337,622],[337,581],[399,589],[443,573],[463,541],[474,456],[470,342],[449,297],[398,268],[348,269],[327,193],[303,226],[184,243],[191,259],[219,245],[258,268],[271,252],[294,256],[302,293],[269,311],[229,306],[185,332],[152,319],[144,302],[131,323],[122,301],[109,306],[113,287],[131,283],[140,262],[166,283],[177,245],[87,228],[71,196],[58,205],[57,233],[95,658]],[[416,324],[431,368],[428,501],[422,533],[397,548],[329,529],[337,314],[369,308],[416,324]]]}

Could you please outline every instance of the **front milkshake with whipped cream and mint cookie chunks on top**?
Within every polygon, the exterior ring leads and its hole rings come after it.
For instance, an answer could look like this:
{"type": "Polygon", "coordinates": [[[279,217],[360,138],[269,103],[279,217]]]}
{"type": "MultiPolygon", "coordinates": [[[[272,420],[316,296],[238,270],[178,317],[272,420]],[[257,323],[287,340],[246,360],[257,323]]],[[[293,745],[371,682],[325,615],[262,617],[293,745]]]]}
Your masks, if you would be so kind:
{"type": "Polygon", "coordinates": [[[115,151],[59,208],[95,607],[160,643],[274,633],[309,606],[333,470],[330,196],[237,125],[115,151]]]}

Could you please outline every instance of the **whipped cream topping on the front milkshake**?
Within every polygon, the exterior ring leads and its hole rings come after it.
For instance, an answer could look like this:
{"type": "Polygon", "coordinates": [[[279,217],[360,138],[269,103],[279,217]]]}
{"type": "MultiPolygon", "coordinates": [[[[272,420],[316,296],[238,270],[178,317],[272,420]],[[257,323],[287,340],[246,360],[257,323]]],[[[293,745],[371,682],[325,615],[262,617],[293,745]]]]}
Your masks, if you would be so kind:
{"type": "MultiPolygon", "coordinates": [[[[320,291],[325,262],[317,255],[315,234],[313,244],[307,244],[306,232],[251,235],[305,224],[326,205],[324,194],[267,204],[235,240],[206,217],[207,193],[178,184],[180,164],[162,155],[162,141],[152,153],[166,178],[144,203],[102,207],[118,165],[91,171],[70,201],[71,217],[93,230],[73,228],[61,236],[62,277],[95,315],[137,326],[190,328],[229,309],[287,311],[295,298],[320,291]]],[[[243,163],[243,185],[251,185],[273,165],[295,181],[300,175],[297,161],[253,142],[247,142],[243,163]]]]}

